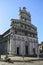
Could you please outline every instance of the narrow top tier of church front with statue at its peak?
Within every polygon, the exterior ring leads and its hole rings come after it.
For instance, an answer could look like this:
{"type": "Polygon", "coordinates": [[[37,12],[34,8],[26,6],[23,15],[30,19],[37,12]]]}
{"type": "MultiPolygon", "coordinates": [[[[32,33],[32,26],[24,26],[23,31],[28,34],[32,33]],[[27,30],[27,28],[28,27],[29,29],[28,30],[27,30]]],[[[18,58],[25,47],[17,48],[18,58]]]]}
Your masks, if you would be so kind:
{"type": "Polygon", "coordinates": [[[23,21],[31,22],[31,14],[30,12],[26,11],[26,7],[23,7],[23,9],[20,8],[19,12],[20,19],[22,19],[23,21]]]}

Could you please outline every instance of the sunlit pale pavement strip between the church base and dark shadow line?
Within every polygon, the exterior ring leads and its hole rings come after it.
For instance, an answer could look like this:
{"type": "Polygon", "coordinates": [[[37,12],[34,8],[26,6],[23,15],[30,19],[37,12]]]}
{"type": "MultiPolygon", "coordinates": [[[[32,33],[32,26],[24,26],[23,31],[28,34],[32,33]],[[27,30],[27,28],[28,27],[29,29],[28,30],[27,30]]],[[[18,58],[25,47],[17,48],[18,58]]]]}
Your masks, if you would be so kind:
{"type": "MultiPolygon", "coordinates": [[[[2,55],[1,59],[5,60],[6,55],[2,55]]],[[[21,56],[8,56],[8,58],[10,58],[12,61],[15,62],[29,62],[29,61],[39,61],[39,60],[43,60],[43,58],[39,58],[39,57],[21,57],[21,56]]]]}

